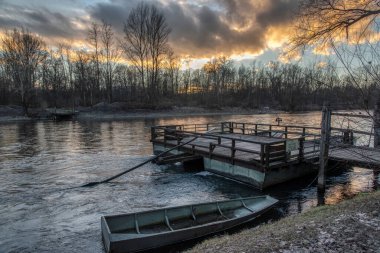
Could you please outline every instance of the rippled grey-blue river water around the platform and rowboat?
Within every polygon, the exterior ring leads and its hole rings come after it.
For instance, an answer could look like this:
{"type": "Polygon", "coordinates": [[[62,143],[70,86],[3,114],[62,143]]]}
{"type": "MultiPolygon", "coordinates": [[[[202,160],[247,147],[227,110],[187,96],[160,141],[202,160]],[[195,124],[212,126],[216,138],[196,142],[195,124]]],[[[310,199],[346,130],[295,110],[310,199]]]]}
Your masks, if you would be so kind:
{"type": "MultiPolygon", "coordinates": [[[[150,126],[221,121],[319,126],[320,113],[234,115],[124,121],[0,124],[0,252],[103,252],[101,215],[262,194],[246,185],[181,166],[146,166],[112,183],[99,181],[151,157],[150,126]]],[[[272,187],[282,216],[318,204],[315,177],[272,187]]],[[[372,191],[372,170],[349,167],[328,177],[324,198],[334,204],[372,191]]]]}

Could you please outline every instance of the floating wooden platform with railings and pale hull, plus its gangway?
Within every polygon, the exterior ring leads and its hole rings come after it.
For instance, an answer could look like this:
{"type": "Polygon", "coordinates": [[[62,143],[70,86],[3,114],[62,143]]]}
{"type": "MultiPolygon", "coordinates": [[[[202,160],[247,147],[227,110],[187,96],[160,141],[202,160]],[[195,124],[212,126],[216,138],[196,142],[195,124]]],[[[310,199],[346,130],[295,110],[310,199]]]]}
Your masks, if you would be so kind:
{"type": "MultiPolygon", "coordinates": [[[[151,142],[160,153],[197,137],[171,154],[178,157],[174,161],[200,156],[206,170],[264,188],[316,172],[320,131],[311,126],[237,122],[155,126],[151,142]]],[[[333,131],[330,160],[380,166],[380,150],[349,145],[347,129],[333,131]]]]}

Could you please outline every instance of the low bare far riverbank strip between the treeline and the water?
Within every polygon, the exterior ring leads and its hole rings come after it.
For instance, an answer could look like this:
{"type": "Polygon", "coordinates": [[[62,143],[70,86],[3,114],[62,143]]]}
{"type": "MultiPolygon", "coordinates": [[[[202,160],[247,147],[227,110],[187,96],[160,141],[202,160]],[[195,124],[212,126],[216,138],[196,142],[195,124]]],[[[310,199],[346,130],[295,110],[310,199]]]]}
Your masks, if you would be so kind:
{"type": "MultiPolygon", "coordinates": [[[[130,109],[121,110],[118,108],[94,106],[78,108],[75,116],[77,120],[129,120],[129,119],[154,119],[185,116],[217,116],[217,115],[252,115],[252,114],[274,114],[282,111],[265,109],[247,109],[240,107],[224,107],[219,109],[209,109],[202,107],[173,107],[171,109],[130,109]]],[[[0,108],[0,122],[15,122],[28,120],[49,119],[46,109],[31,109],[32,117],[24,116],[22,109],[18,107],[2,106],[0,108]]]]}

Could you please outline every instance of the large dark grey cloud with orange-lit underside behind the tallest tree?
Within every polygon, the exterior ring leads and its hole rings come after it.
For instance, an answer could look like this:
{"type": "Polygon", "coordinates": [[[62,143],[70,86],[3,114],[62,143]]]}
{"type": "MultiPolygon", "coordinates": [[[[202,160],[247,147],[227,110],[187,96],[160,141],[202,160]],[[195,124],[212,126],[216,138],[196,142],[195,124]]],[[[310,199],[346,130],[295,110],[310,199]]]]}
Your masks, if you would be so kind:
{"type": "MultiPolygon", "coordinates": [[[[90,7],[89,12],[98,20],[107,20],[122,33],[121,24],[137,2],[98,3],[90,7]]],[[[172,27],[170,42],[175,52],[190,57],[260,53],[270,46],[268,37],[281,40],[281,35],[286,34],[280,31],[292,20],[297,6],[295,0],[154,3],[165,13],[172,27]]]]}

